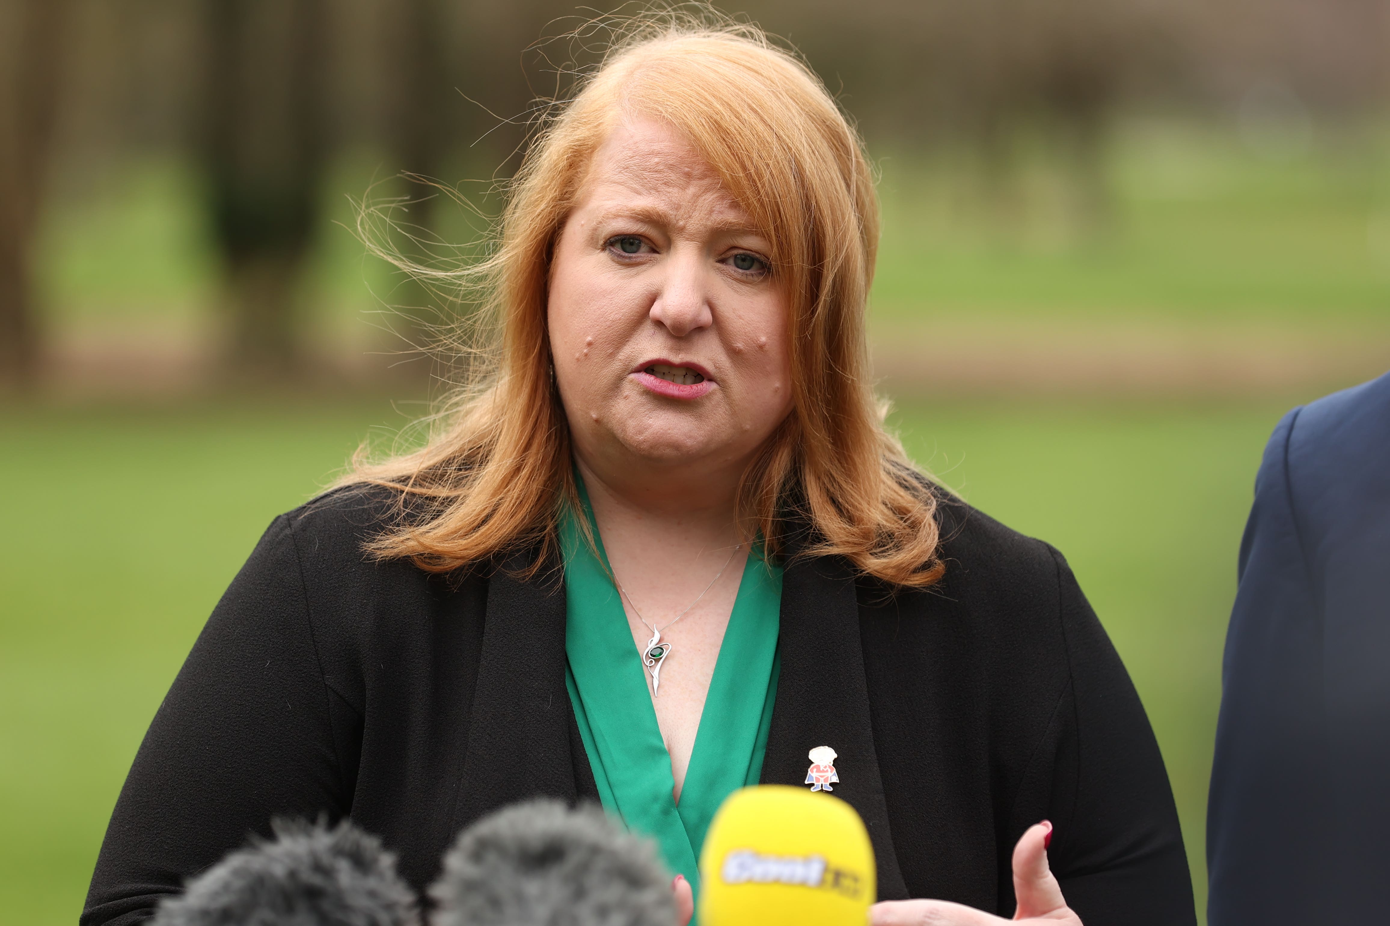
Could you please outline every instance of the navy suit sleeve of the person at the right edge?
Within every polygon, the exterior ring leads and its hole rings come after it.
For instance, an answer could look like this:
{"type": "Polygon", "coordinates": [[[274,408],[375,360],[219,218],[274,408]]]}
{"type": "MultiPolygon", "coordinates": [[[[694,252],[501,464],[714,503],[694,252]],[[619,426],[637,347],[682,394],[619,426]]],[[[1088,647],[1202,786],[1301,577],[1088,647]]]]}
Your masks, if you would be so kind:
{"type": "Polygon", "coordinates": [[[1301,411],[1265,448],[1240,544],[1207,811],[1211,926],[1320,922],[1322,615],[1289,480],[1301,411]]]}

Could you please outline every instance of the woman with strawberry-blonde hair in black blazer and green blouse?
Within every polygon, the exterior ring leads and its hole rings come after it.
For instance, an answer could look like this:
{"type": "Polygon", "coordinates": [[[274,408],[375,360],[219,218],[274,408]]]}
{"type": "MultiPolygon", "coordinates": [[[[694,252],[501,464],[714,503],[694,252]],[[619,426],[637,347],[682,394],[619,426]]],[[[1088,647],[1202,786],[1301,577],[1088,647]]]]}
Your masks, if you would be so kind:
{"type": "Polygon", "coordinates": [[[617,49],[459,275],[493,286],[495,368],[424,450],[271,525],[83,922],[136,922],[272,815],[352,815],[424,887],[537,794],[652,836],[688,904],[719,802],[812,779],[867,823],[885,926],[997,922],[1016,891],[1194,922],[1156,744],[1066,564],[883,429],[876,244],[859,139],[795,58],[752,29],[617,49]]]}

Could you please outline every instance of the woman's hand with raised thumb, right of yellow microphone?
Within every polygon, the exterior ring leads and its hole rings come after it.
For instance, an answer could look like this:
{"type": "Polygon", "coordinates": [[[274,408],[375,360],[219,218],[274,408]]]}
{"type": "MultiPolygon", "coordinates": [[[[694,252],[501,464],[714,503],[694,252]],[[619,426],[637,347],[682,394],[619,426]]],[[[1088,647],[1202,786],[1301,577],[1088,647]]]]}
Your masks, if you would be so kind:
{"type": "MultiPolygon", "coordinates": [[[[1062,887],[1047,865],[1052,825],[1034,823],[1013,847],[1013,894],[1019,900],[1015,920],[1081,926],[1062,898],[1062,887]]],[[[984,911],[941,900],[890,900],[869,908],[870,926],[998,926],[1009,920],[984,911]]]]}

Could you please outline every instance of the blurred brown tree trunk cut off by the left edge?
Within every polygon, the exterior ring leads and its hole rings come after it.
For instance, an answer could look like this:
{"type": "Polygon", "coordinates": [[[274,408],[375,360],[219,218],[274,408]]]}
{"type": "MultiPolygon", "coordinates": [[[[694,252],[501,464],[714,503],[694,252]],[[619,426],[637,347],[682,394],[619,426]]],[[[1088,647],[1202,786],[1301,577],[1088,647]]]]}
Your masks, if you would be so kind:
{"type": "Polygon", "coordinates": [[[29,385],[38,372],[32,240],[57,117],[71,3],[7,0],[0,58],[0,382],[29,385]]]}

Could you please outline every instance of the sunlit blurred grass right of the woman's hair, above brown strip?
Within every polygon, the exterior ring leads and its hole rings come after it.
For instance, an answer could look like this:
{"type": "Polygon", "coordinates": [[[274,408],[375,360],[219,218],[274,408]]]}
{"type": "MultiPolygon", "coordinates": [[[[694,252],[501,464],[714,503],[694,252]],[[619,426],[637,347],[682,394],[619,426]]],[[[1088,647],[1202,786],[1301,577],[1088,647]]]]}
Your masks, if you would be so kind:
{"type": "Polygon", "coordinates": [[[959,157],[887,158],[876,322],[923,317],[1384,326],[1390,146],[1366,131],[1269,160],[1212,128],[1134,124],[1105,165],[1108,219],[1024,153],[997,189],[959,157]]]}

